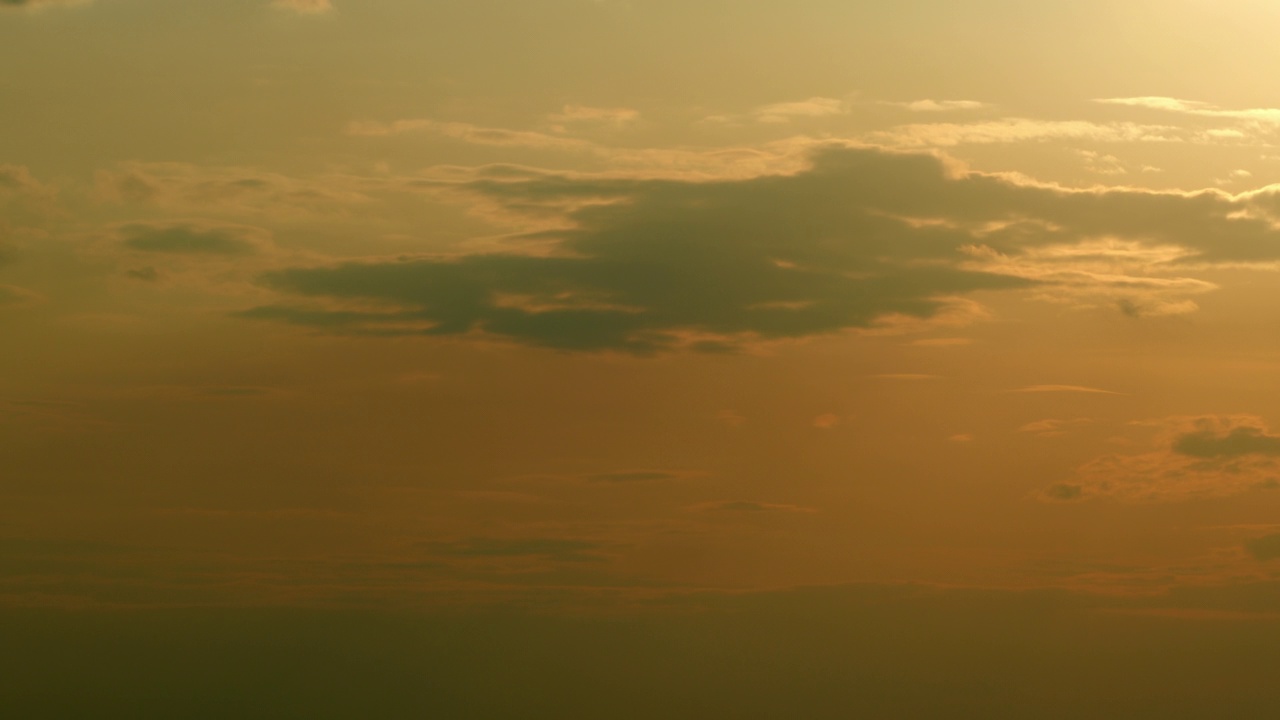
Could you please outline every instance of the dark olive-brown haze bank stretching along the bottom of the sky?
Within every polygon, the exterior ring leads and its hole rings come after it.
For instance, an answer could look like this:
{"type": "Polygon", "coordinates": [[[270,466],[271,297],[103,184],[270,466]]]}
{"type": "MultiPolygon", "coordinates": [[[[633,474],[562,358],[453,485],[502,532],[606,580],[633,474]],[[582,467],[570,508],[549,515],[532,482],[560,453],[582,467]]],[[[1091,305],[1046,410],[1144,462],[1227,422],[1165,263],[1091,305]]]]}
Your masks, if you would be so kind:
{"type": "Polygon", "coordinates": [[[623,612],[573,612],[559,596],[483,612],[10,611],[0,687],[20,719],[1268,717],[1276,588],[1202,593],[864,585],[623,612]]]}

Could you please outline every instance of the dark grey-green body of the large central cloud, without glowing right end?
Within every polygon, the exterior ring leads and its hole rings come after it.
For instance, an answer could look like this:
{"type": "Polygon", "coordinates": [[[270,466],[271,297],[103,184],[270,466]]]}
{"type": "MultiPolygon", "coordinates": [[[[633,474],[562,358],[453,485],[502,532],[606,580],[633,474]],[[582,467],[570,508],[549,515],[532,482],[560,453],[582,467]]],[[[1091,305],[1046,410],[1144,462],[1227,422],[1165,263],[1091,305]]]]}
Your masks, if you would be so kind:
{"type": "Polygon", "coordinates": [[[636,354],[724,351],[742,340],[865,328],[887,315],[931,318],[947,296],[1029,284],[959,268],[969,236],[883,210],[884,187],[929,193],[952,182],[933,158],[865,151],[827,152],[805,173],[749,181],[479,181],[472,191],[511,209],[609,202],[566,210],[572,228],[529,238],[556,242],[552,255],[348,263],[264,278],[291,295],[396,310],[280,305],[244,315],[636,354]]]}

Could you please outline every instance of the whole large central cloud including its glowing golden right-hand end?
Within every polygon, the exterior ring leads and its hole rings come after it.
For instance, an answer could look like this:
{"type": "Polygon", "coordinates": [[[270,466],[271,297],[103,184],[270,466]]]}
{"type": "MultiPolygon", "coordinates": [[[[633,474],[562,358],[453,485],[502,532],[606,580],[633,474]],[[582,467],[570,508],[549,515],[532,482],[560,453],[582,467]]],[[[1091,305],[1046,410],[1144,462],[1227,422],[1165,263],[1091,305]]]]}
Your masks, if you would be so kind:
{"type": "Polygon", "coordinates": [[[977,291],[1185,313],[1187,296],[1215,286],[1174,273],[1280,260],[1280,187],[1065,190],[874,149],[827,146],[805,169],[746,179],[525,172],[449,187],[558,227],[508,238],[525,254],[276,270],[262,283],[296,300],[244,316],[347,334],[723,352],[938,319],[977,291]]]}

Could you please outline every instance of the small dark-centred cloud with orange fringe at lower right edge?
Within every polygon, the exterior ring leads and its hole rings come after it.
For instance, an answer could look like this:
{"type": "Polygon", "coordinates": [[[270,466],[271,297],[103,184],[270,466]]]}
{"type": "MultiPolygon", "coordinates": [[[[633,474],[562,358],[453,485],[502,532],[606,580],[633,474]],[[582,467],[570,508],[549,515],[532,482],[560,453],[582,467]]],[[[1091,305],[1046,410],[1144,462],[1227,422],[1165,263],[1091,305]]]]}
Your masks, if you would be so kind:
{"type": "Polygon", "coordinates": [[[1068,500],[1111,498],[1121,502],[1176,502],[1228,497],[1274,487],[1280,478],[1280,436],[1251,415],[1166,418],[1156,448],[1107,455],[1087,462],[1069,483],[1068,500]]]}

